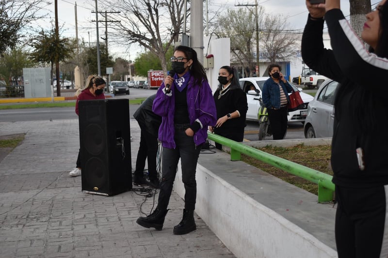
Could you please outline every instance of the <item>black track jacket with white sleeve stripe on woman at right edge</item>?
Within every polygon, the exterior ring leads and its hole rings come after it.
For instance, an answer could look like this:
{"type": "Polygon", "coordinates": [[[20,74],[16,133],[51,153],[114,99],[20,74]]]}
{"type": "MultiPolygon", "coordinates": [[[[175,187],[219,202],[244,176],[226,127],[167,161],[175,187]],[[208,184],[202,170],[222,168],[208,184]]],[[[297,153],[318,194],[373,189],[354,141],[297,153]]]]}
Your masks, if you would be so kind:
{"type": "Polygon", "coordinates": [[[339,9],[325,15],[333,50],[323,48],[323,20],[307,20],[302,57],[340,83],[336,92],[331,165],[346,187],[388,184],[388,60],[369,53],[339,9]],[[363,151],[359,167],[356,149],[363,151]]]}

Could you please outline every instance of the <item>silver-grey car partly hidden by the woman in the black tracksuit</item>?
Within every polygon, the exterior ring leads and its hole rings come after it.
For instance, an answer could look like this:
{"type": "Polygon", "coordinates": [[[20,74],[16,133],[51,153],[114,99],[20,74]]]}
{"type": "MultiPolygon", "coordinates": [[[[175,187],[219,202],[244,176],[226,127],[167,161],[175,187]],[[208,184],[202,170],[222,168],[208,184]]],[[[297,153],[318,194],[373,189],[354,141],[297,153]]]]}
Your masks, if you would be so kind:
{"type": "Polygon", "coordinates": [[[314,99],[308,104],[304,126],[306,138],[332,137],[334,125],[334,99],[339,83],[323,82],[314,99]]]}

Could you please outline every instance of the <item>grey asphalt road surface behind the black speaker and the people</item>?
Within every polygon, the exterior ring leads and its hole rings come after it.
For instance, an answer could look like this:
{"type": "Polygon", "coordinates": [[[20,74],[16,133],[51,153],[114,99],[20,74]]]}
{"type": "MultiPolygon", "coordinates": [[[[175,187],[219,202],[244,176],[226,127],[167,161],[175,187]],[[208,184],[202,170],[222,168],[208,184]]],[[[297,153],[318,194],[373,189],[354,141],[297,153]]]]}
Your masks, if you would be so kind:
{"type": "MultiPolygon", "coordinates": [[[[115,98],[142,98],[156,93],[154,90],[130,89],[130,95],[117,95],[115,98]]],[[[129,105],[129,117],[133,118],[133,113],[139,105],[129,105]]],[[[26,109],[4,109],[0,110],[0,122],[17,121],[48,121],[61,119],[77,119],[74,107],[51,107],[51,108],[26,108],[26,109]]],[[[259,122],[246,121],[244,138],[250,141],[259,139],[259,122]]],[[[289,123],[286,139],[304,138],[303,124],[300,122],[289,123]]],[[[272,139],[270,137],[269,139],[272,139]]]]}

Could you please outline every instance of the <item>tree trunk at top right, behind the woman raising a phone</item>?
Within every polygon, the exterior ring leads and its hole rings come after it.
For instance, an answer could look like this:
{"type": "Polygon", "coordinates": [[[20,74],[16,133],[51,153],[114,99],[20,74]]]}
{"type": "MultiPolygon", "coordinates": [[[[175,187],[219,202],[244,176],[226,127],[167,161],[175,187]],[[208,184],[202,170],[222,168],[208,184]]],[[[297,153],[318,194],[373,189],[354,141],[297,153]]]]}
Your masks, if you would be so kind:
{"type": "Polygon", "coordinates": [[[361,37],[361,32],[366,21],[365,15],[372,11],[371,0],[349,0],[350,3],[350,25],[361,37]]]}

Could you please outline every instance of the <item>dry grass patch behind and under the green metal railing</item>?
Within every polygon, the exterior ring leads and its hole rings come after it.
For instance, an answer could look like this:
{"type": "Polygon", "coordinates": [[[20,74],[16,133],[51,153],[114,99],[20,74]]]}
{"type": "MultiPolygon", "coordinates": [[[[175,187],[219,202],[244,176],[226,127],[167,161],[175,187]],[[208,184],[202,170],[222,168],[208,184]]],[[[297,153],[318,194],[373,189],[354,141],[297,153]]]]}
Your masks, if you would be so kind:
{"type": "MultiPolygon", "coordinates": [[[[310,167],[323,173],[333,175],[330,165],[331,145],[305,146],[303,144],[299,144],[288,148],[266,146],[264,148],[260,148],[259,150],[298,163],[305,167],[310,167]]],[[[294,176],[277,167],[273,167],[272,165],[266,164],[244,154],[241,155],[241,160],[251,166],[258,167],[259,169],[274,175],[283,181],[289,182],[318,196],[318,184],[294,176]]]]}

